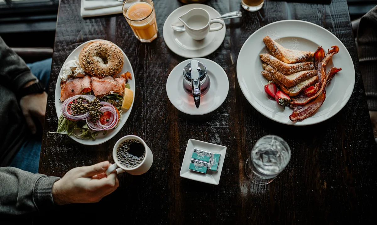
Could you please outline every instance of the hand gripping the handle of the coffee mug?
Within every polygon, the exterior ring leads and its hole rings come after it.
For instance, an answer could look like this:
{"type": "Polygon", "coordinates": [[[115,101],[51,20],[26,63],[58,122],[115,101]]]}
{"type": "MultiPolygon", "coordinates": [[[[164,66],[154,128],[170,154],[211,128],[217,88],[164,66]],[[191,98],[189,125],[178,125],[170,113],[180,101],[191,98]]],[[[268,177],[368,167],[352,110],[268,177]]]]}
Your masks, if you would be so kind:
{"type": "Polygon", "coordinates": [[[52,186],[55,204],[99,202],[119,186],[116,171],[106,176],[109,161],[92,166],[76,167],[52,186]]]}

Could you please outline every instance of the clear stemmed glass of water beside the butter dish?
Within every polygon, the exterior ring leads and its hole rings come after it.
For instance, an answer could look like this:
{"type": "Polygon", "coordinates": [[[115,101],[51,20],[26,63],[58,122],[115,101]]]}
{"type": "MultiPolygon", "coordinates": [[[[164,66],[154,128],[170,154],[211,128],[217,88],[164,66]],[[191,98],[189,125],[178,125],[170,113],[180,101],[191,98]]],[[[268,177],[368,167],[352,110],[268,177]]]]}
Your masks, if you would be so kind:
{"type": "Polygon", "coordinates": [[[259,139],[245,163],[247,177],[255,184],[269,184],[291,160],[291,149],[281,137],[259,139]]]}

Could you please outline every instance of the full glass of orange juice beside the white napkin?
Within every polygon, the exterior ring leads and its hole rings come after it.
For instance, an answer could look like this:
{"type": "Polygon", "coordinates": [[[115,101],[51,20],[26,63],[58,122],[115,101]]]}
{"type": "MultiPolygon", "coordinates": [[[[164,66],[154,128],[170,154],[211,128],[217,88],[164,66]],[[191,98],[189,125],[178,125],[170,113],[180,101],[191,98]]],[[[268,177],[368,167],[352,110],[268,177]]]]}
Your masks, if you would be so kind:
{"type": "Polygon", "coordinates": [[[152,0],[124,1],[123,15],[141,42],[150,43],[157,38],[156,13],[152,0]]]}

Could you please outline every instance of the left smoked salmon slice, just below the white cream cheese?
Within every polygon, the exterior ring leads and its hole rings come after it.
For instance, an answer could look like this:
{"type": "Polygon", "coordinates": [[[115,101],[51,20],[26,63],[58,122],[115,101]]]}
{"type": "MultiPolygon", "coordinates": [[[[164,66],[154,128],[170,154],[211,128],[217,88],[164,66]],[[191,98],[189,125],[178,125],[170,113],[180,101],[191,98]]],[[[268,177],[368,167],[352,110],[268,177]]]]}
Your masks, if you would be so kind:
{"type": "Polygon", "coordinates": [[[60,100],[63,102],[69,97],[86,93],[92,90],[90,85],[90,77],[68,79],[60,83],[60,100]]]}

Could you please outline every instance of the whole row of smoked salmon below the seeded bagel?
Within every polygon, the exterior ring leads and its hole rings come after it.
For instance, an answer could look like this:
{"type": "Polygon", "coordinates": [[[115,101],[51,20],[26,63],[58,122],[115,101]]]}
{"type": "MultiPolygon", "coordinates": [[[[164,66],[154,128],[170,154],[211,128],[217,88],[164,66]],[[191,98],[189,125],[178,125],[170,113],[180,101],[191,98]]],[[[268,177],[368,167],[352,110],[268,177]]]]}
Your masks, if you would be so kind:
{"type": "Polygon", "coordinates": [[[123,96],[124,88],[128,79],[132,79],[131,73],[121,74],[119,77],[106,76],[96,78],[89,75],[83,78],[68,78],[60,82],[60,100],[64,102],[68,98],[93,91],[96,97],[102,97],[111,93],[117,93],[123,96]]]}

